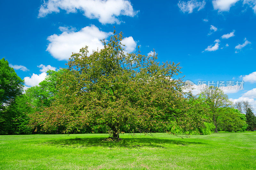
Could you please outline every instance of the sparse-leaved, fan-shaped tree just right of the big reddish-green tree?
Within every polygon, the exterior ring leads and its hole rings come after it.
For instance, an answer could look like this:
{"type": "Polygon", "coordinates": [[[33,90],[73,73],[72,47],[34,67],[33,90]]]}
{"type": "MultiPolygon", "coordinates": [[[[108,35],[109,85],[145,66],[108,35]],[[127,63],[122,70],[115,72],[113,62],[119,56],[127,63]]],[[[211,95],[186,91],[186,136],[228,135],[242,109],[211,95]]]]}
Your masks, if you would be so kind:
{"type": "Polygon", "coordinates": [[[215,133],[218,132],[218,118],[223,109],[227,108],[232,104],[228,99],[228,95],[224,94],[224,92],[217,87],[206,87],[201,90],[203,98],[205,98],[205,102],[208,104],[210,109],[210,115],[212,117],[212,122],[215,126],[215,133]]]}

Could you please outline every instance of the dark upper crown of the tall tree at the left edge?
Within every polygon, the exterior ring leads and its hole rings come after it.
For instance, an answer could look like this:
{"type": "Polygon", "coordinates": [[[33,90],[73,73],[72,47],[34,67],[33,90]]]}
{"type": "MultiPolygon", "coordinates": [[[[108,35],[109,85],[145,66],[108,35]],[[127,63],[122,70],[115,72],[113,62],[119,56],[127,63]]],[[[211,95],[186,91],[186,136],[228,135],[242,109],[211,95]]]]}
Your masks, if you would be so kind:
{"type": "Polygon", "coordinates": [[[15,73],[4,58],[0,60],[0,111],[22,94],[24,81],[15,73]]]}

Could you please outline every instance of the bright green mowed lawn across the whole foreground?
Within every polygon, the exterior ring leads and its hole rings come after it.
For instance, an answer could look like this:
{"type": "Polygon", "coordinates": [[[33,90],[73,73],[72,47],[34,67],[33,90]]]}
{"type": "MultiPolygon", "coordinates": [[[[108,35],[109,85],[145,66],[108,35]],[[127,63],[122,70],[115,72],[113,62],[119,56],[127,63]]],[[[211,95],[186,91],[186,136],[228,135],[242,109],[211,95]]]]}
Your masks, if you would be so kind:
{"type": "Polygon", "coordinates": [[[256,169],[256,132],[0,136],[0,169],[256,169]]]}

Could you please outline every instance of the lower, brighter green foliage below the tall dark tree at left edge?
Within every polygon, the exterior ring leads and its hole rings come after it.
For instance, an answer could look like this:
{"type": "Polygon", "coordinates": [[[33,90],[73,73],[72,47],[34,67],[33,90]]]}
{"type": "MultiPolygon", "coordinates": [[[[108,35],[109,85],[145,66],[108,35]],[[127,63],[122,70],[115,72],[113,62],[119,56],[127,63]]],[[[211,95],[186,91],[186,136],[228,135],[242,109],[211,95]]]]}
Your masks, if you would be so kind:
{"type": "Polygon", "coordinates": [[[20,95],[1,112],[0,134],[29,134],[28,126],[32,108],[28,106],[28,98],[20,95]]]}

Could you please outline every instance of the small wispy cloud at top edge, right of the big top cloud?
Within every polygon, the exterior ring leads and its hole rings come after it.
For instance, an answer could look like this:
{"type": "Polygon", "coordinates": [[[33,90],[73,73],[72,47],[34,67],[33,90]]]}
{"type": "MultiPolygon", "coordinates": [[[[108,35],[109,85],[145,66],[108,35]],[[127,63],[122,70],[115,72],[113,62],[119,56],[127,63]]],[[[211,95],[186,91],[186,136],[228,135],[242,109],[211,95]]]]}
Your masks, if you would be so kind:
{"type": "Polygon", "coordinates": [[[194,9],[197,9],[197,11],[203,9],[205,4],[206,2],[204,0],[202,2],[198,0],[190,0],[187,2],[179,1],[178,6],[183,13],[192,13],[194,9]]]}

